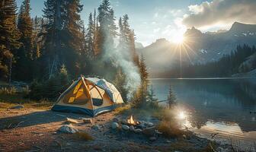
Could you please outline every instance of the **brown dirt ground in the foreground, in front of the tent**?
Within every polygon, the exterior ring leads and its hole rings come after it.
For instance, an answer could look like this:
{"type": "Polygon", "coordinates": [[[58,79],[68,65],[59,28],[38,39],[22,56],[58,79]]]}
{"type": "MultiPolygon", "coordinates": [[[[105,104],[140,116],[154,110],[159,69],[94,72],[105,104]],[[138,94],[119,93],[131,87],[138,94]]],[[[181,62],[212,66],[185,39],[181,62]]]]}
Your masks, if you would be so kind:
{"type": "Polygon", "coordinates": [[[75,124],[79,131],[91,135],[85,141],[76,135],[57,130],[66,124],[66,118],[88,116],[53,112],[50,109],[2,109],[0,111],[0,151],[206,151],[208,141],[203,138],[166,139],[149,141],[144,135],[110,129],[114,112],[92,118],[92,124],[82,120],[75,124]],[[99,125],[99,130],[91,128],[99,125]]]}

